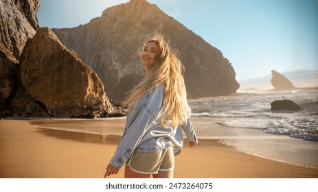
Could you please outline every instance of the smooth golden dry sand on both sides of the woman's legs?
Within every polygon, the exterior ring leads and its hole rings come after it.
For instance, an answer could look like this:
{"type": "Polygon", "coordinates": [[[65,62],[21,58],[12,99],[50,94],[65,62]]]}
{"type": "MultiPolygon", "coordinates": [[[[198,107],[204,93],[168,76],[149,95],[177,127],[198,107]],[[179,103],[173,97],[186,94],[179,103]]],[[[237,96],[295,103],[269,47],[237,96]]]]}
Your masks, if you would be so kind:
{"type": "MultiPolygon", "coordinates": [[[[34,127],[34,120],[0,120],[0,178],[102,178],[120,136],[34,127]]],[[[125,119],[107,121],[116,129],[125,119]]],[[[185,142],[186,144],[186,142],[185,142]]],[[[318,170],[238,152],[218,140],[183,146],[174,178],[318,178],[318,170]]],[[[110,178],[124,178],[124,169],[110,178]]]]}

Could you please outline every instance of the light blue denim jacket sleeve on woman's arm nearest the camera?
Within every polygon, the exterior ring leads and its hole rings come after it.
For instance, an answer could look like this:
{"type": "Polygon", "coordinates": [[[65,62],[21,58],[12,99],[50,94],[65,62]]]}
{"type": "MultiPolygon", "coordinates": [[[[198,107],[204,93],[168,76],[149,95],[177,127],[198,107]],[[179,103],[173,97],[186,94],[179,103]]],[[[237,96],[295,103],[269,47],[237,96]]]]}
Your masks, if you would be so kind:
{"type": "Polygon", "coordinates": [[[161,108],[164,86],[159,84],[139,99],[132,118],[127,118],[127,125],[110,164],[120,169],[133,150],[139,145],[144,133],[161,108]]]}

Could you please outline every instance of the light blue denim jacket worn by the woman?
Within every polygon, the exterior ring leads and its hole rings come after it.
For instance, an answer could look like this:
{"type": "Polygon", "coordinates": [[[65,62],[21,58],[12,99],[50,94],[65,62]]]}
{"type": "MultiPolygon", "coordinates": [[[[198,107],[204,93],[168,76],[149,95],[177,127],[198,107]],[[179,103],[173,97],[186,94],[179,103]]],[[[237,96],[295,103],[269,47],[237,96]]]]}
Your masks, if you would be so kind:
{"type": "Polygon", "coordinates": [[[178,128],[172,128],[169,125],[165,128],[160,126],[161,118],[163,118],[161,110],[164,90],[164,84],[150,89],[139,99],[135,110],[128,113],[126,127],[120,144],[111,158],[111,165],[120,169],[133,150],[155,152],[166,147],[174,147],[174,155],[177,155],[181,152],[183,145],[182,130],[188,141],[198,143],[190,119],[178,128]]]}

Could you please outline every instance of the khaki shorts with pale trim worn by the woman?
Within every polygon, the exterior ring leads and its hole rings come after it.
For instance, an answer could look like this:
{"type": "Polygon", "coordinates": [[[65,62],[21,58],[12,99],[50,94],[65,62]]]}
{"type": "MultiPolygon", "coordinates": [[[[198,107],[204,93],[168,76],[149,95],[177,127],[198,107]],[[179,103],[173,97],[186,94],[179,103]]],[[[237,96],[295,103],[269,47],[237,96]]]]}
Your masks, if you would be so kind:
{"type": "Polygon", "coordinates": [[[158,171],[170,171],[174,169],[173,148],[168,147],[157,152],[134,151],[126,165],[129,165],[133,171],[143,174],[157,174],[158,171]]]}

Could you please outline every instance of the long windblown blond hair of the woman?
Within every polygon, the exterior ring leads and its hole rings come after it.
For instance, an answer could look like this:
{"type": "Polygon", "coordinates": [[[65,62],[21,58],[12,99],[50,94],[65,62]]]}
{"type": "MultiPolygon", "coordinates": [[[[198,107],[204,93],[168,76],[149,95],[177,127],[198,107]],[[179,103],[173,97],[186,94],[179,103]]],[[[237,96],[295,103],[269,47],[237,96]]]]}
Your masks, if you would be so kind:
{"type": "Polygon", "coordinates": [[[191,112],[183,80],[184,67],[161,34],[153,36],[144,45],[150,42],[157,43],[159,47],[154,66],[148,75],[130,91],[124,104],[128,105],[129,110],[133,110],[135,104],[147,91],[163,83],[165,84],[163,99],[163,117],[165,118],[161,119],[161,126],[165,126],[169,120],[172,120],[172,127],[176,128],[188,120],[191,112]]]}

